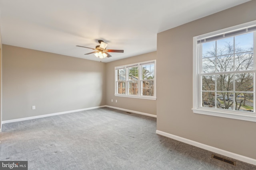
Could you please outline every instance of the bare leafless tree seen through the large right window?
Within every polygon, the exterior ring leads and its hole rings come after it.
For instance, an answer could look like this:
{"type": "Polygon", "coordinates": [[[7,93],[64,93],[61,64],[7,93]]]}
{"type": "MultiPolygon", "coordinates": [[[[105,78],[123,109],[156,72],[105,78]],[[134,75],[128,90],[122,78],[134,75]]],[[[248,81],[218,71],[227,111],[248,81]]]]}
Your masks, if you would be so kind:
{"type": "Polygon", "coordinates": [[[216,91],[203,92],[203,106],[216,106],[218,108],[230,109],[235,102],[235,110],[239,110],[241,106],[246,105],[246,101],[251,100],[253,95],[253,73],[228,73],[236,70],[252,70],[253,68],[253,48],[242,49],[230,42],[226,42],[225,46],[207,51],[202,56],[202,72],[222,72],[222,74],[206,74],[202,76],[202,90],[216,91]],[[227,73],[226,73],[227,72],[227,73]],[[216,88],[216,89],[215,89],[216,88]],[[235,89],[234,89],[235,88],[235,89]],[[234,91],[236,92],[234,94],[234,91]],[[243,94],[243,98],[239,98],[243,94]],[[215,95],[216,99],[215,100],[215,95]],[[233,101],[234,99],[234,101],[233,101]],[[215,104],[215,101],[217,104],[215,104]]]}

